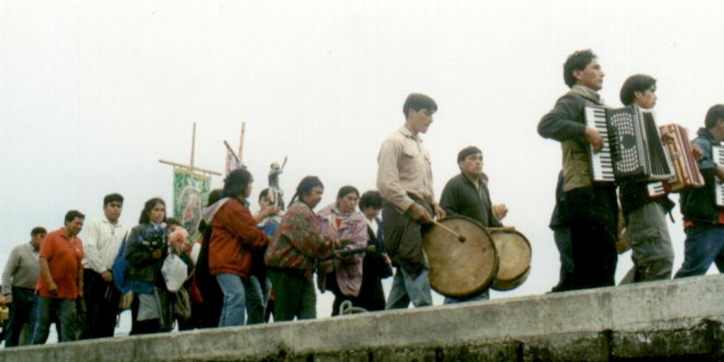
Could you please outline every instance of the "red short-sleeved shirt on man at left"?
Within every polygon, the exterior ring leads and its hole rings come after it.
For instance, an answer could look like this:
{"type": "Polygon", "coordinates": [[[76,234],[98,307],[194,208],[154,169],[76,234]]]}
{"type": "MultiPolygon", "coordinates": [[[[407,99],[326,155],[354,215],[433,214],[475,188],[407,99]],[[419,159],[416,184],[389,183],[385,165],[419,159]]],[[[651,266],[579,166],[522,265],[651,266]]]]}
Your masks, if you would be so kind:
{"type": "Polygon", "coordinates": [[[41,258],[46,258],[50,275],[58,286],[58,293],[51,295],[45,278],[38,278],[35,290],[43,298],[78,298],[78,269],[83,268],[83,242],[74,236],[68,238],[63,229],[50,232],[41,243],[41,258]]]}

